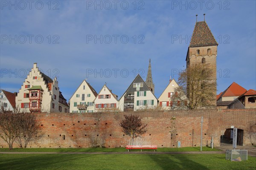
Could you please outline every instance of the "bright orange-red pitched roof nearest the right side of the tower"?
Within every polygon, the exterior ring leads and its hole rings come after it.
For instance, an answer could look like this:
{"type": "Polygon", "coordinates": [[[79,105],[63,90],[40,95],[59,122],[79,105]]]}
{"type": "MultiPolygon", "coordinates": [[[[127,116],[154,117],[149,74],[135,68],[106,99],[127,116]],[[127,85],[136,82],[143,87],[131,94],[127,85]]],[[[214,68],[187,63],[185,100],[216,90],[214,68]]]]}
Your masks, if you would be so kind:
{"type": "Polygon", "coordinates": [[[217,100],[221,97],[241,96],[246,91],[247,90],[245,88],[241,87],[236,82],[233,82],[225,91],[223,91],[217,100]]]}

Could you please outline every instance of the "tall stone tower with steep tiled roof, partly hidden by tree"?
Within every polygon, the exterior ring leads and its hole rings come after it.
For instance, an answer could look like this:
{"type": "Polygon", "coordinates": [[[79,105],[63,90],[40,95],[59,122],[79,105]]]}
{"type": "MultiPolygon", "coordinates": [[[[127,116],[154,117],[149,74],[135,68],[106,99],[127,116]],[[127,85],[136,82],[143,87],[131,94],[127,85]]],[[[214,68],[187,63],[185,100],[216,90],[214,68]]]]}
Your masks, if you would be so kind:
{"type": "MultiPolygon", "coordinates": [[[[205,15],[205,14],[204,14],[205,15]]],[[[197,16],[197,15],[196,15],[197,16]]],[[[186,67],[188,68],[193,64],[207,64],[211,70],[209,75],[209,81],[213,81],[216,84],[216,57],[217,57],[217,46],[215,38],[212,35],[207,23],[200,21],[195,23],[195,28],[192,34],[191,42],[189,44],[187,56],[186,56],[186,67]]],[[[187,87],[189,89],[189,87],[187,87]]],[[[216,98],[216,85],[212,88],[212,97],[216,98]]],[[[189,91],[188,91],[189,97],[189,91]]],[[[216,106],[216,100],[212,101],[212,105],[216,106]]]]}

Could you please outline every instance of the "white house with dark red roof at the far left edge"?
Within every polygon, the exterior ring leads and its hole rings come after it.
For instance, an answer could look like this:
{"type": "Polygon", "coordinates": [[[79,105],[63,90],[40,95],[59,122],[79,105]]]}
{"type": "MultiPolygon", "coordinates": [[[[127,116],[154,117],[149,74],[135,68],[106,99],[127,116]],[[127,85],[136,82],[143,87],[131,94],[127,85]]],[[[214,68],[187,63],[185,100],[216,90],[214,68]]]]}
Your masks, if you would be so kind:
{"type": "Polygon", "coordinates": [[[16,104],[15,104],[15,93],[11,93],[9,91],[0,90],[0,107],[6,111],[14,111],[16,104]]]}

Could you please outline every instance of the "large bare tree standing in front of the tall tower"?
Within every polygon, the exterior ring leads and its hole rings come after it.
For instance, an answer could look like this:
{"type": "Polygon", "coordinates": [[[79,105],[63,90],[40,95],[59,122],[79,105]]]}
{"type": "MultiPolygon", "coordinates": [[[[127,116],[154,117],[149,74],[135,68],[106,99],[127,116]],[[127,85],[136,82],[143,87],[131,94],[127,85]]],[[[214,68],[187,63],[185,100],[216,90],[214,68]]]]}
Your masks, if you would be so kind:
{"type": "Polygon", "coordinates": [[[193,110],[199,107],[216,106],[216,79],[212,79],[212,70],[209,65],[201,63],[190,65],[179,73],[178,85],[171,101],[180,101],[180,105],[186,105],[193,110]],[[187,98],[184,98],[184,94],[187,98]]]}

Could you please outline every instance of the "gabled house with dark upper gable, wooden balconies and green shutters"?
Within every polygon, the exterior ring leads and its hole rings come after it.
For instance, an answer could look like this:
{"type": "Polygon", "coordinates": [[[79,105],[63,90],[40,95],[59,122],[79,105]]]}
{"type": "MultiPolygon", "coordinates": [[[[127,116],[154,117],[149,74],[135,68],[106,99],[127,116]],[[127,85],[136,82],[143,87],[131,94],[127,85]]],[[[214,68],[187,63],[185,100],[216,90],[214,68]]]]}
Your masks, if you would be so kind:
{"type": "Polygon", "coordinates": [[[119,99],[121,111],[137,111],[144,108],[157,107],[157,98],[151,88],[145,84],[138,74],[125,93],[119,99]]]}

